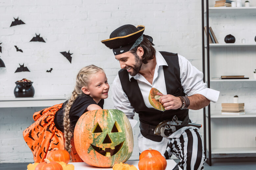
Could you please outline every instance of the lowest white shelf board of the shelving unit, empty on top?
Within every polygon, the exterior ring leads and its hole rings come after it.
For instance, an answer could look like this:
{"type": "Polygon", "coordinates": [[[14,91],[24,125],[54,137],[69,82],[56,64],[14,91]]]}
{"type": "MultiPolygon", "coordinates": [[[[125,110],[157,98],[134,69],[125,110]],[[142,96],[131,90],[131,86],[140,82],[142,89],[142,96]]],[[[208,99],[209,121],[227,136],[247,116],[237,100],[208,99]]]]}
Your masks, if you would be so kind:
{"type": "Polygon", "coordinates": [[[256,147],[212,148],[212,154],[247,154],[247,153],[256,153],[256,147]]]}

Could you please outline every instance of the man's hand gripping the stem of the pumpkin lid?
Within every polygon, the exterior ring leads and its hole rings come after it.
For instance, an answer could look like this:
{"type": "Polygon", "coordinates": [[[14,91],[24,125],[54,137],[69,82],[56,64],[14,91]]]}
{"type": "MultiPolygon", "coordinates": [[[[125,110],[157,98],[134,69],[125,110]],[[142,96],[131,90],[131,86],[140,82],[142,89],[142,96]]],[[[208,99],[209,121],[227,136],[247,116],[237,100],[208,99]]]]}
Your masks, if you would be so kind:
{"type": "Polygon", "coordinates": [[[179,97],[175,97],[170,94],[163,95],[161,93],[157,93],[157,95],[161,96],[159,102],[163,104],[166,110],[178,109],[182,106],[182,102],[179,97]]]}

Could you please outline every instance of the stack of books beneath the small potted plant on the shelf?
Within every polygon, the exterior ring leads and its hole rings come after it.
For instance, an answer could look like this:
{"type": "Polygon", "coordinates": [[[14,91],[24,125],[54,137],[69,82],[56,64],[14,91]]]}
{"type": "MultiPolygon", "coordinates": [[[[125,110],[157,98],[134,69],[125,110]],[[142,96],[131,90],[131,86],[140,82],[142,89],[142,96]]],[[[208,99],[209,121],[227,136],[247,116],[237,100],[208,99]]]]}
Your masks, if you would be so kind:
{"type": "Polygon", "coordinates": [[[244,103],[222,103],[222,115],[244,115],[244,103]]]}

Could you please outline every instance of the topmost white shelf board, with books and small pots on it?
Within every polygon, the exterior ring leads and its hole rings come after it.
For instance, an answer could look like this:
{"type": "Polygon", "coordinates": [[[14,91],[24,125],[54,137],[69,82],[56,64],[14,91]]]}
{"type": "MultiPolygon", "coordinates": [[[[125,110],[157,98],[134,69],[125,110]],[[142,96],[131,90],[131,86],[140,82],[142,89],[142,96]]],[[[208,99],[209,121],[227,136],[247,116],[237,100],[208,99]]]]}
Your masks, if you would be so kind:
{"type": "Polygon", "coordinates": [[[209,7],[211,13],[256,13],[256,7],[209,7]]]}

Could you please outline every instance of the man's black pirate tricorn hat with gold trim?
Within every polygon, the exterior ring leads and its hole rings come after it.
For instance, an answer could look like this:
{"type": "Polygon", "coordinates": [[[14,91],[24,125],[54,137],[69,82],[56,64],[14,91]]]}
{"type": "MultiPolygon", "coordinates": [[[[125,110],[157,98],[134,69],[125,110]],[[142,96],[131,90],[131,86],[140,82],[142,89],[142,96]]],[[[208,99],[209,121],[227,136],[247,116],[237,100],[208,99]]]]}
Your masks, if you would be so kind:
{"type": "Polygon", "coordinates": [[[113,49],[115,55],[118,55],[131,50],[136,40],[139,38],[141,39],[139,43],[141,43],[144,30],[145,26],[142,25],[137,27],[133,25],[123,25],[119,28],[116,28],[110,34],[109,39],[102,40],[101,42],[108,48],[113,49]]]}

